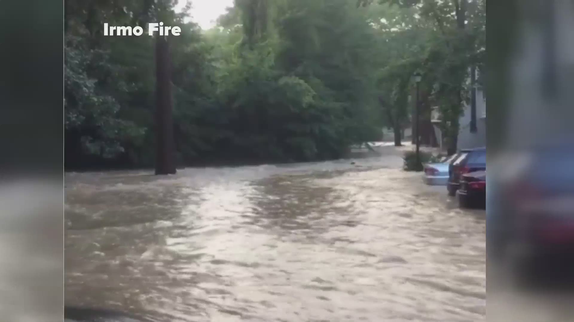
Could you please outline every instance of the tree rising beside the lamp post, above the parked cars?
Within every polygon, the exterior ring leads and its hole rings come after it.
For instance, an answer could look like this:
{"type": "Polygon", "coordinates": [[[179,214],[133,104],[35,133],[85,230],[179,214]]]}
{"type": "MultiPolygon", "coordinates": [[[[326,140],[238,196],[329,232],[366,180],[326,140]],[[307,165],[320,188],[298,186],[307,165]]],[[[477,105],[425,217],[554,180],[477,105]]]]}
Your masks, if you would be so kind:
{"type": "MultiPolygon", "coordinates": [[[[467,79],[472,66],[483,68],[486,38],[483,0],[378,0],[377,3],[417,10],[420,25],[428,37],[420,61],[423,87],[432,89],[421,97],[439,104],[443,131],[449,139],[449,153],[456,151],[459,117],[463,101],[470,92],[467,79]]],[[[373,5],[373,0],[358,0],[358,6],[373,5]]]]}

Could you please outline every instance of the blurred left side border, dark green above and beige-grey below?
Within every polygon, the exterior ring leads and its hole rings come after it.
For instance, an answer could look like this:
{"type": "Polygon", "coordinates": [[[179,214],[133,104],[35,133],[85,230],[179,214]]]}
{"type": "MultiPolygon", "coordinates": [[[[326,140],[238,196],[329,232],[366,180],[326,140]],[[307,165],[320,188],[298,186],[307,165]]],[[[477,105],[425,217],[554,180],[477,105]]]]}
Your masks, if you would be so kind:
{"type": "Polygon", "coordinates": [[[0,9],[0,316],[63,320],[63,1],[0,9]]]}

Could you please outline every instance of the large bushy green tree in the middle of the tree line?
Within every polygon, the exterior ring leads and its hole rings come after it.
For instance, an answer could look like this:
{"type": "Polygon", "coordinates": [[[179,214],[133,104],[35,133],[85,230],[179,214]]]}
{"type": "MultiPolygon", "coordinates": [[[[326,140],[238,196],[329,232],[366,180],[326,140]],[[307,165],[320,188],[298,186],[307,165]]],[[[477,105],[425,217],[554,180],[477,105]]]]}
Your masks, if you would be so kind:
{"type": "Polygon", "coordinates": [[[341,117],[336,127],[347,139],[343,146],[378,139],[381,131],[373,69],[377,38],[368,14],[348,0],[296,0],[278,7],[278,64],[311,85],[320,104],[341,117]]]}

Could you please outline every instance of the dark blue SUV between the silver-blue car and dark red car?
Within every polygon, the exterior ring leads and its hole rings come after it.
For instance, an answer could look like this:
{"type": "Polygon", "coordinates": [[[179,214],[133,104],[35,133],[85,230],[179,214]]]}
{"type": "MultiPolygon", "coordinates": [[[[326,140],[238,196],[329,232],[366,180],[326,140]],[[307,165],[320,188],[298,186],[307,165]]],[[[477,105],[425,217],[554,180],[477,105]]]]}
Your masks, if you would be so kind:
{"type": "Polygon", "coordinates": [[[461,150],[448,167],[448,195],[454,197],[463,174],[486,170],[486,148],[461,150]]]}

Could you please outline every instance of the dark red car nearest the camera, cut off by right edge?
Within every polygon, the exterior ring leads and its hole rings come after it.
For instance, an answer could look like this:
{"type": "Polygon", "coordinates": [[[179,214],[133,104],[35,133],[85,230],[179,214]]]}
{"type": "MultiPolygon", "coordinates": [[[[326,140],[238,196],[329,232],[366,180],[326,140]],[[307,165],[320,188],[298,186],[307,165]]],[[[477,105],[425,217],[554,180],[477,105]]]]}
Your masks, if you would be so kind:
{"type": "Polygon", "coordinates": [[[486,208],[486,171],[463,174],[456,194],[460,207],[486,208]]]}

